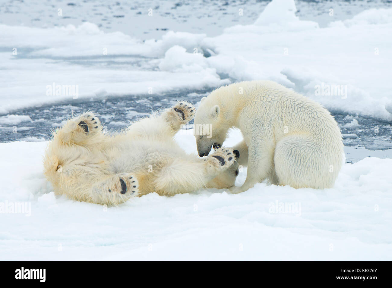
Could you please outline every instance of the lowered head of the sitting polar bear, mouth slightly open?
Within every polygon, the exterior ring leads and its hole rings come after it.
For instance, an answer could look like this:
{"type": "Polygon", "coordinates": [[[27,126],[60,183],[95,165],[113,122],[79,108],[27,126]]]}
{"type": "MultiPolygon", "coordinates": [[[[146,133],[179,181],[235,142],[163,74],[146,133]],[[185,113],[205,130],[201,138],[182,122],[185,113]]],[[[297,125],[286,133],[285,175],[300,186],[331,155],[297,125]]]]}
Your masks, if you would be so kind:
{"type": "Polygon", "coordinates": [[[211,147],[221,147],[230,128],[220,105],[209,105],[207,102],[206,97],[201,99],[194,118],[194,136],[200,157],[207,156],[211,147]]]}

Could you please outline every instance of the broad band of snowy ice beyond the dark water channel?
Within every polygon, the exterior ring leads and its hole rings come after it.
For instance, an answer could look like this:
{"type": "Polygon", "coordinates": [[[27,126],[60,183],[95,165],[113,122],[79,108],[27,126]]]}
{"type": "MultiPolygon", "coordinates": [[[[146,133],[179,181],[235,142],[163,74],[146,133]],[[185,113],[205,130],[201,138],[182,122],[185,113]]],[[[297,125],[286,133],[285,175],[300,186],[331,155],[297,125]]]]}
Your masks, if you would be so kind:
{"type": "Polygon", "coordinates": [[[78,85],[77,98],[91,99],[269,79],[331,111],[392,121],[392,38],[386,37],[392,9],[368,9],[346,20],[330,16],[326,27],[299,19],[296,10],[294,0],[273,0],[254,24],[226,27],[213,37],[167,31],[142,40],[89,22],[0,24],[1,68],[9,75],[0,78],[0,113],[72,102],[72,95],[45,93],[53,82],[78,85]],[[317,94],[321,85],[332,92],[317,94]]]}

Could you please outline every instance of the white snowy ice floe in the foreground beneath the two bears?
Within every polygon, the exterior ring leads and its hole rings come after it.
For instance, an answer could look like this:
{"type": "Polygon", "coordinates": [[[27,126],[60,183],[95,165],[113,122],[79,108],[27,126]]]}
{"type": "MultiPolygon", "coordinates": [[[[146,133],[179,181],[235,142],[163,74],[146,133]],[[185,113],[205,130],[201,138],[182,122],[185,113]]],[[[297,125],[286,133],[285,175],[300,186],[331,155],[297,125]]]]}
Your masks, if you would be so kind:
{"type": "MultiPolygon", "coordinates": [[[[238,136],[233,131],[227,145],[238,136]]],[[[179,132],[176,141],[196,152],[192,134],[179,132]]],[[[42,172],[46,144],[0,143],[2,260],[353,261],[392,256],[392,159],[345,164],[333,189],[260,183],[235,195],[216,189],[174,197],[153,193],[105,207],[54,194],[42,172]],[[11,212],[18,205],[19,213],[11,212]]],[[[245,178],[243,168],[236,184],[245,178]]]]}

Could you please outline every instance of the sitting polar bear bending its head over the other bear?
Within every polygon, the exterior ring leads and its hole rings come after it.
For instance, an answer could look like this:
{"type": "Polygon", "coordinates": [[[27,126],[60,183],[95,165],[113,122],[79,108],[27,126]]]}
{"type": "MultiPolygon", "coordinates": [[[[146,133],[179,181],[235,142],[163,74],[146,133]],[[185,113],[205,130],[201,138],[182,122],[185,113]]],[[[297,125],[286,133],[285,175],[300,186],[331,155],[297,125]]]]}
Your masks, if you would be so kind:
{"type": "Polygon", "coordinates": [[[199,156],[220,147],[230,128],[241,130],[240,165],[247,165],[243,192],[268,179],[294,188],[331,188],[343,161],[340,129],[327,109],[272,81],[220,87],[201,100],[195,127],[211,125],[212,137],[196,133],[199,156]],[[199,135],[198,135],[199,134],[199,135]]]}

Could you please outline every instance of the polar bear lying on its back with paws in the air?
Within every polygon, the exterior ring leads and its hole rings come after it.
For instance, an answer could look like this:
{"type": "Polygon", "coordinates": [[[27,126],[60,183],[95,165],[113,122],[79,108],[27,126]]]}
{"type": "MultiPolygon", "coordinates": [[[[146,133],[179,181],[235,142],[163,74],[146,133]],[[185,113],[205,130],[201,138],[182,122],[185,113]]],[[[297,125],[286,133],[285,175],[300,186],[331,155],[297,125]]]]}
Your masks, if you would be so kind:
{"type": "Polygon", "coordinates": [[[45,176],[57,194],[114,205],[150,192],[174,195],[234,186],[238,151],[222,148],[198,158],[174,141],[194,111],[189,103],[178,102],[115,136],[103,133],[93,113],[82,114],[54,132],[45,152],[45,176]]]}

